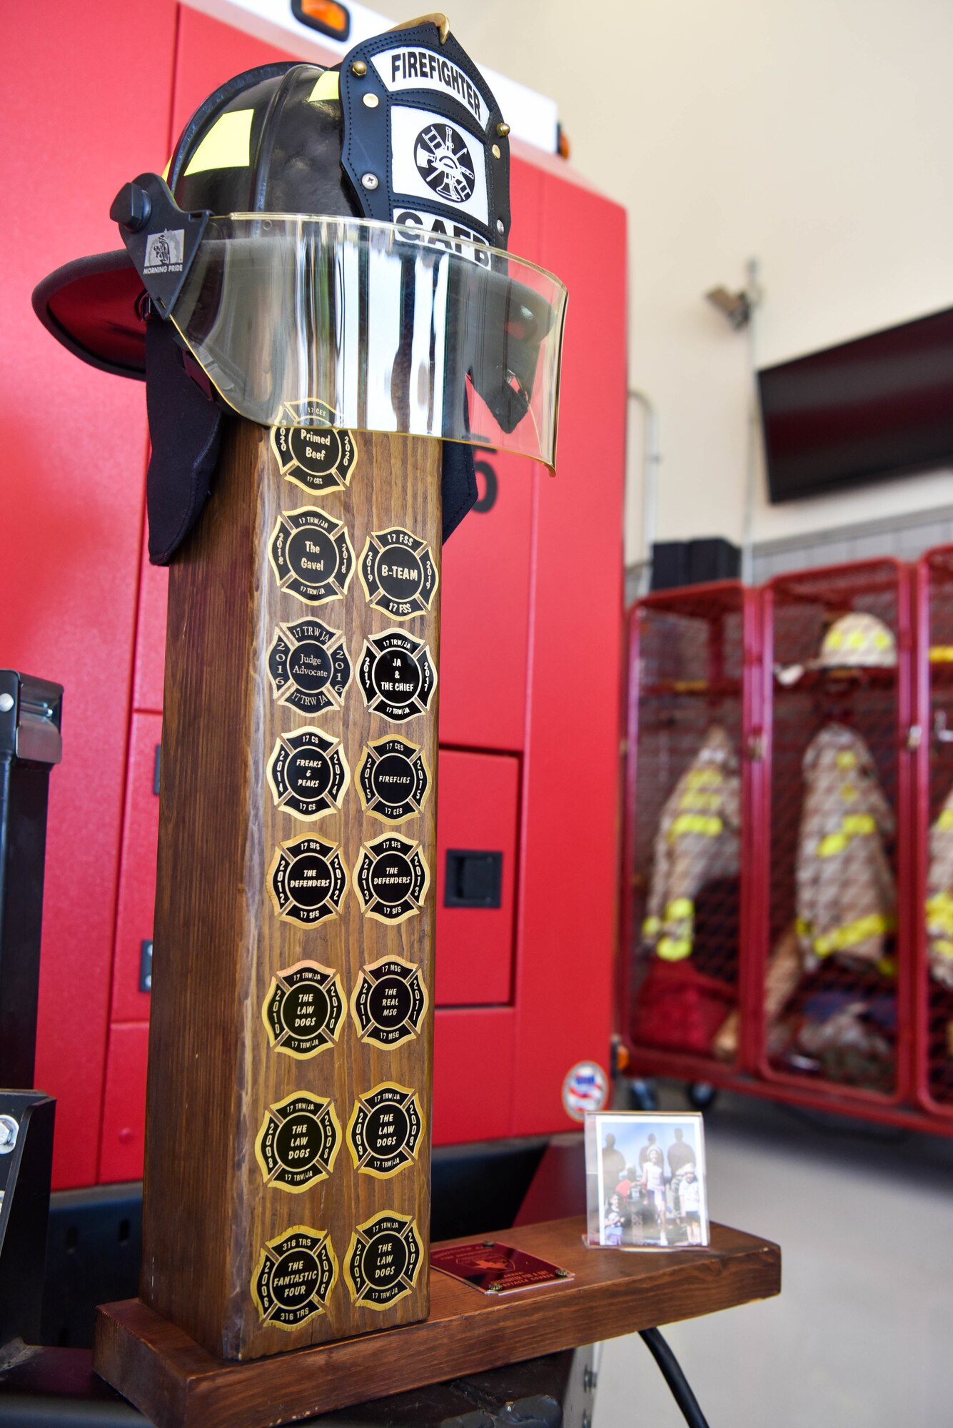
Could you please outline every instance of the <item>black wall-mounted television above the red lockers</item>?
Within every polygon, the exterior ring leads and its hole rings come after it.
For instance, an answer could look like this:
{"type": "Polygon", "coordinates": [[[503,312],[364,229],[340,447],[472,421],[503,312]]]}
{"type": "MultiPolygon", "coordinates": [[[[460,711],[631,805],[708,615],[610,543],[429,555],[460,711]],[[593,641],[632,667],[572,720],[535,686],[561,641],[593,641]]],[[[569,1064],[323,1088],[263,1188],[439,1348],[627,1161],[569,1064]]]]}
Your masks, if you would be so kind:
{"type": "Polygon", "coordinates": [[[773,504],[953,466],[953,308],[758,373],[773,504]]]}

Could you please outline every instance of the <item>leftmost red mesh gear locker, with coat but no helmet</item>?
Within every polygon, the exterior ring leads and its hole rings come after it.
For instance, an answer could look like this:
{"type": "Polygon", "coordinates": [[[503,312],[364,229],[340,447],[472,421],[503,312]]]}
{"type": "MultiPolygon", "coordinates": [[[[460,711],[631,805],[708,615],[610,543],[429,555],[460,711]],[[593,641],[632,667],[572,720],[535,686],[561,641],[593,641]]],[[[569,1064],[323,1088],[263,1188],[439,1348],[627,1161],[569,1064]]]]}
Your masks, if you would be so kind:
{"type": "Polygon", "coordinates": [[[629,613],[621,971],[641,1075],[716,1082],[745,1065],[756,604],[720,581],[646,595],[629,613]]]}

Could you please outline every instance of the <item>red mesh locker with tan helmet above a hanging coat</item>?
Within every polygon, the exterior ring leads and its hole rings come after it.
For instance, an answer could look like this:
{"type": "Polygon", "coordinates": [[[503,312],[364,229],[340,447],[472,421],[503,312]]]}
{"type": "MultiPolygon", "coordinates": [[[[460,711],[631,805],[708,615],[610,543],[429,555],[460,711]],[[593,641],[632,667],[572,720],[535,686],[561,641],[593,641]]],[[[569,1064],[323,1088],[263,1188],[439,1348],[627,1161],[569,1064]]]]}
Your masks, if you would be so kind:
{"type": "MultiPolygon", "coordinates": [[[[783,982],[773,1015],[760,1017],[759,1070],[768,1081],[823,1091],[832,1108],[855,1102],[897,1104],[910,1084],[910,1024],[913,958],[903,911],[912,891],[910,755],[912,627],[906,567],[895,560],[832,565],[779,575],[763,594],[763,718],[769,775],[760,877],[766,892],[759,985],[772,977],[783,982]],[[820,660],[825,635],[845,614],[873,615],[896,640],[896,664],[873,668],[820,660]],[[797,673],[800,671],[800,673],[797,673]],[[809,747],[819,748],[822,730],[846,731],[845,748],[825,748],[833,757],[833,783],[825,791],[837,830],[802,848],[802,860],[840,880],[870,874],[857,864],[840,870],[852,843],[867,838],[867,857],[880,840],[895,885],[895,905],[867,912],[876,935],[862,940],[852,914],[845,927],[805,925],[797,901],[797,857],[802,814],[809,781],[829,778],[826,765],[805,770],[809,747]],[[847,743],[850,747],[847,747],[847,743]],[[872,758],[867,784],[879,785],[895,830],[867,813],[863,803],[862,758],[872,758]],[[836,787],[835,787],[836,785],[836,787]],[[853,798],[855,801],[847,801],[853,798]],[[813,863],[810,861],[813,860],[813,863]],[[853,931],[852,931],[853,928],[853,931]],[[843,934],[843,935],[840,935],[843,934]],[[850,934],[850,935],[847,935],[850,934]],[[856,948],[880,945],[880,955],[856,948]],[[810,954],[805,951],[810,945],[810,954]],[[782,967],[783,964],[783,967],[782,967]]],[[[873,794],[872,794],[873,797],[873,794]]],[[[879,795],[877,795],[879,797],[879,795]]],[[[833,824],[832,824],[833,827],[833,824]]],[[[812,834],[813,837],[813,834],[812,834]]],[[[830,887],[830,883],[826,884],[830,887]]],[[[863,890],[865,911],[875,894],[863,890]]],[[[880,894],[880,897],[883,897],[880,894]]],[[[845,901],[849,907],[849,900],[845,901]]],[[[832,914],[829,921],[836,921],[832,914]]],[[[876,950],[876,948],[875,948],[876,950]]],[[[765,1000],[760,1005],[763,1008],[765,1000]]]]}

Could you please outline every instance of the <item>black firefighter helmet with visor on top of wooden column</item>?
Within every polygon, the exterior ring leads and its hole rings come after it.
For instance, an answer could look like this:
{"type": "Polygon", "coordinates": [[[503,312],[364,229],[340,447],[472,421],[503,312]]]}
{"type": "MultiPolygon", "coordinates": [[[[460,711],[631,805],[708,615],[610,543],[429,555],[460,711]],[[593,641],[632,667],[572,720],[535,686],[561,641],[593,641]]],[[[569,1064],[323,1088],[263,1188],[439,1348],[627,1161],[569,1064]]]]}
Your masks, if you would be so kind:
{"type": "Polygon", "coordinates": [[[505,253],[506,133],[435,17],[340,70],[250,70],[165,177],[120,190],[124,250],[39,284],[64,346],[147,378],[153,560],[201,510],[230,410],[444,440],[445,536],[476,496],[474,446],[554,466],[565,288],[505,253]]]}

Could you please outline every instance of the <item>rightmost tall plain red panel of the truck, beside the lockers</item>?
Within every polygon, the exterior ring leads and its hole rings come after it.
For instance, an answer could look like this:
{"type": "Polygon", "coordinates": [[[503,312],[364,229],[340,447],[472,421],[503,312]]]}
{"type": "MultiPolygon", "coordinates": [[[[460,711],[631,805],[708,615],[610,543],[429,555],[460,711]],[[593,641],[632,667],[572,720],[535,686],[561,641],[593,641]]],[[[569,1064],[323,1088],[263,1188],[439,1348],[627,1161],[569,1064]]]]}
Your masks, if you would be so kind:
{"type": "Polygon", "coordinates": [[[566,1071],[583,1060],[605,1065],[618,920],[625,210],[559,160],[542,164],[541,244],[528,256],[564,278],[569,311],[558,476],[538,467],[534,491],[508,1127],[516,1135],[566,1130],[566,1071]]]}

